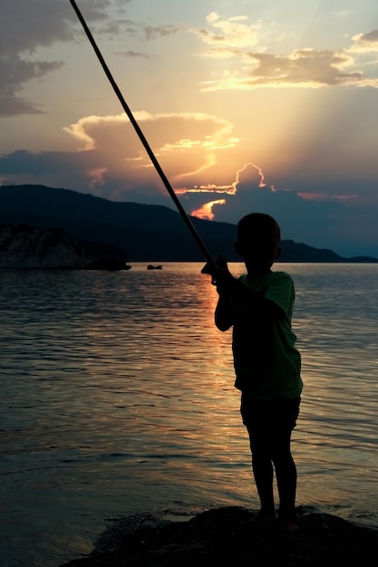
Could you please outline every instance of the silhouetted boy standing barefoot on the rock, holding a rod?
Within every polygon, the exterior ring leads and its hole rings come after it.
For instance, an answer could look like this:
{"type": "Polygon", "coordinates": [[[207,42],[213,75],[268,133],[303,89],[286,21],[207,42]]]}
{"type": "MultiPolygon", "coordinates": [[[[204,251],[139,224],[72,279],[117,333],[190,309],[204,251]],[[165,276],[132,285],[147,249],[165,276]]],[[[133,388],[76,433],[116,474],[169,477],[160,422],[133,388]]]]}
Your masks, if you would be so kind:
{"type": "Polygon", "coordinates": [[[275,219],[251,213],[239,221],[235,244],[247,275],[237,280],[227,264],[210,272],[219,294],[216,325],[222,332],[233,327],[235,386],[241,390],[240,411],[249,435],[261,502],[257,519],[260,524],[277,520],[279,527],[295,532],[296,465],[290,441],[303,384],[296,335],[291,330],[294,284],[285,272],[271,271],[280,253],[279,244],[280,228],[275,219]]]}

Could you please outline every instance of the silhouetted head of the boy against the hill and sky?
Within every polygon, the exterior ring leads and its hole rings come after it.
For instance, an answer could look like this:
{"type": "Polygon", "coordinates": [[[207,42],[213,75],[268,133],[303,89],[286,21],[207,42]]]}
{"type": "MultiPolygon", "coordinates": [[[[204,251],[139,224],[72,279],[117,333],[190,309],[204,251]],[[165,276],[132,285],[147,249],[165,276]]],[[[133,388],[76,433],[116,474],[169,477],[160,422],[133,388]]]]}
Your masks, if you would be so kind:
{"type": "Polygon", "coordinates": [[[243,256],[248,269],[265,272],[281,252],[280,239],[281,230],[272,216],[250,213],[237,224],[235,249],[243,256]]]}

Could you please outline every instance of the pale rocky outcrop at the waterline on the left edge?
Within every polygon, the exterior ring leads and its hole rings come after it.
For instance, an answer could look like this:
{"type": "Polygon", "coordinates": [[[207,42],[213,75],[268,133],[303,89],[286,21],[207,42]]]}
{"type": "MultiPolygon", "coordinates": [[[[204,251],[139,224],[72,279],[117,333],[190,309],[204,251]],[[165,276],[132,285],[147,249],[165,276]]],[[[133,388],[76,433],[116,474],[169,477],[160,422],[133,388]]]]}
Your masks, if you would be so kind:
{"type": "Polygon", "coordinates": [[[20,223],[0,227],[1,268],[80,268],[86,263],[82,246],[62,229],[38,230],[20,223]]]}

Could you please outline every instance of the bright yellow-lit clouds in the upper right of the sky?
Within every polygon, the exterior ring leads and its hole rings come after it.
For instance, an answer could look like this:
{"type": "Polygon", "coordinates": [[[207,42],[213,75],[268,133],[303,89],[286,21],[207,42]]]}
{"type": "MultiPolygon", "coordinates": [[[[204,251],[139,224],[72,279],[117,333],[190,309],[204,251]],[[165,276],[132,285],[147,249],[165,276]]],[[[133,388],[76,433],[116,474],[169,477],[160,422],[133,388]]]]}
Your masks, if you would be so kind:
{"type": "Polygon", "coordinates": [[[250,90],[257,87],[359,86],[378,88],[378,77],[367,77],[354,54],[368,53],[376,62],[378,32],[355,35],[351,48],[330,50],[304,48],[289,54],[267,53],[262,44],[262,25],[247,24],[247,17],[222,20],[216,13],[207,18],[209,28],[194,33],[205,43],[204,56],[229,60],[218,78],[203,82],[202,91],[250,90]],[[250,46],[256,50],[250,50],[250,46]]]}

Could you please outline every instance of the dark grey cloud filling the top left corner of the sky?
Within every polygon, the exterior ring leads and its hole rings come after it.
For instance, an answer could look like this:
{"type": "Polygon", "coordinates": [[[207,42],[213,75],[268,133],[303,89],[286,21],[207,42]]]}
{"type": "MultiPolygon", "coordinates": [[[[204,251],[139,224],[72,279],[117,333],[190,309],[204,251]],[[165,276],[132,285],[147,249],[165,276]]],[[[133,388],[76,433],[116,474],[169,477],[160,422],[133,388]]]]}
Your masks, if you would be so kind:
{"type": "MultiPolygon", "coordinates": [[[[82,0],[80,5],[88,22],[105,26],[109,0],[82,0]]],[[[108,28],[107,32],[111,30],[108,28]]],[[[2,0],[0,37],[0,115],[43,112],[37,102],[26,100],[21,93],[28,82],[44,79],[63,67],[62,61],[38,58],[38,50],[59,42],[73,42],[78,37],[82,39],[72,6],[61,0],[2,0]]]]}

